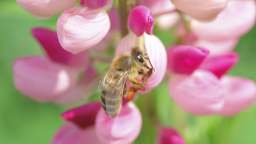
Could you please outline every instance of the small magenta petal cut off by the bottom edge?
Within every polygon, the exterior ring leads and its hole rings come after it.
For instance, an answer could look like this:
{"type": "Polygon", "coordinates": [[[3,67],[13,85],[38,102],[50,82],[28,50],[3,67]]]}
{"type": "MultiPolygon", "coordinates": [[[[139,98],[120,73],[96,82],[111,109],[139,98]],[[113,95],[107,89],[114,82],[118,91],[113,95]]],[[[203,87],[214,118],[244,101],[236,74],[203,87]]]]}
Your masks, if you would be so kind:
{"type": "Polygon", "coordinates": [[[185,144],[185,141],[174,129],[163,127],[158,132],[157,144],[185,144]]]}

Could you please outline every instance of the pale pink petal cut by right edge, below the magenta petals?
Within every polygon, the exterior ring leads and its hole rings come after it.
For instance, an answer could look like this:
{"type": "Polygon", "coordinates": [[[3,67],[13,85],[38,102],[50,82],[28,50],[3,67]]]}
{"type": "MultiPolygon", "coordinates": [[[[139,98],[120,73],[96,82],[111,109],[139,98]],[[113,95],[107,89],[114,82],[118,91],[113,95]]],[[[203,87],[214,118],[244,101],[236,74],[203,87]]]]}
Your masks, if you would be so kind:
{"type": "Polygon", "coordinates": [[[223,76],[221,82],[226,96],[224,107],[219,114],[232,116],[254,104],[256,100],[256,84],[252,80],[223,76]]]}

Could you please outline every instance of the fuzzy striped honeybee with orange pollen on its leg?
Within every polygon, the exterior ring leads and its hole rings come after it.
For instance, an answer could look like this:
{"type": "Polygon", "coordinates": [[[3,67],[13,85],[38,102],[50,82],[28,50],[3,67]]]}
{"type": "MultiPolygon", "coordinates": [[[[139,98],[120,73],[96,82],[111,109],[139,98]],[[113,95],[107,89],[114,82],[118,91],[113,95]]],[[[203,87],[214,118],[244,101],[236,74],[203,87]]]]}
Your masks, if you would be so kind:
{"type": "Polygon", "coordinates": [[[139,46],[114,58],[104,70],[98,86],[98,89],[101,87],[100,97],[106,114],[115,117],[122,108],[122,97],[131,99],[138,90],[145,90],[144,83],[153,70],[148,54],[139,46]],[[126,84],[128,81],[130,87],[126,84]]]}

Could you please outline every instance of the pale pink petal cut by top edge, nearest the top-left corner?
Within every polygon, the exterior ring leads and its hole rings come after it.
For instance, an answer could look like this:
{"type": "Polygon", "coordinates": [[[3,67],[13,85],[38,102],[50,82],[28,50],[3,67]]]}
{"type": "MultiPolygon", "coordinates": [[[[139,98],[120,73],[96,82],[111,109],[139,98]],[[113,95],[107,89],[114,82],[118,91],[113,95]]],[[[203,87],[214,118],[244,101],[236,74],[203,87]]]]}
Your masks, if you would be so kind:
{"type": "Polygon", "coordinates": [[[27,12],[37,18],[50,18],[65,8],[76,3],[76,0],[16,0],[27,12]]]}

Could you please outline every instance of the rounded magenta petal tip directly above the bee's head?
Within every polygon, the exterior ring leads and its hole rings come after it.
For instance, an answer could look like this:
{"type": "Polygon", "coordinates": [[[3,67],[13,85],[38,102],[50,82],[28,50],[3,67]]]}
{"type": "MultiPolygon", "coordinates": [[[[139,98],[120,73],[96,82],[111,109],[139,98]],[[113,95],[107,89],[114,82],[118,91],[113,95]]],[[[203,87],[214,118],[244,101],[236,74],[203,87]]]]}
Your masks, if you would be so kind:
{"type": "Polygon", "coordinates": [[[154,17],[146,6],[136,6],[128,16],[128,27],[136,34],[141,36],[144,32],[153,33],[154,17]]]}

